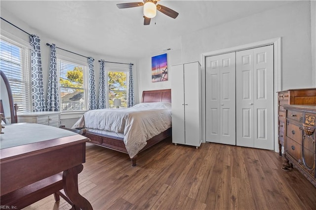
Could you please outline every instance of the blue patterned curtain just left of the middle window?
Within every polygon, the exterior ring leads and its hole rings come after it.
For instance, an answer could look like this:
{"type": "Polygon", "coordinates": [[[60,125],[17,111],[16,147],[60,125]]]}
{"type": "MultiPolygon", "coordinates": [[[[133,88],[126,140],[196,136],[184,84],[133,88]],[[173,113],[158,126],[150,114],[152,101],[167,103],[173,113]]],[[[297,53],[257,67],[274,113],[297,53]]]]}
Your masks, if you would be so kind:
{"type": "Polygon", "coordinates": [[[50,65],[47,87],[46,111],[59,111],[59,90],[56,62],[56,46],[50,46],[50,65]]]}

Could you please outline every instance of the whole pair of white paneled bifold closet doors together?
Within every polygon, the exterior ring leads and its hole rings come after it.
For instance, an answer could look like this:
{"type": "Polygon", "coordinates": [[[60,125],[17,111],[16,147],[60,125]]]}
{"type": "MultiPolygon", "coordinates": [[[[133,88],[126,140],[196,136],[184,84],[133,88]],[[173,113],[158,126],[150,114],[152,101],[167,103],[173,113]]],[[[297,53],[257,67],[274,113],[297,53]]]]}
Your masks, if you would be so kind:
{"type": "Polygon", "coordinates": [[[206,141],[274,149],[273,45],[205,59],[206,141]]]}

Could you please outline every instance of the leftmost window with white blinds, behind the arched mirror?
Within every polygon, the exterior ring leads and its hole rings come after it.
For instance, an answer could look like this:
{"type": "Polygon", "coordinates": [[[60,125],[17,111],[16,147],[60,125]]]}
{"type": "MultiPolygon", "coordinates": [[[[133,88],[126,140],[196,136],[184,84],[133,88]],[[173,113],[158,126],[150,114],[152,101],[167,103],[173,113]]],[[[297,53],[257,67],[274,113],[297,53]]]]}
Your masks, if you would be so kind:
{"type": "Polygon", "coordinates": [[[1,36],[0,70],[9,80],[17,113],[31,111],[30,69],[30,49],[1,36]]]}

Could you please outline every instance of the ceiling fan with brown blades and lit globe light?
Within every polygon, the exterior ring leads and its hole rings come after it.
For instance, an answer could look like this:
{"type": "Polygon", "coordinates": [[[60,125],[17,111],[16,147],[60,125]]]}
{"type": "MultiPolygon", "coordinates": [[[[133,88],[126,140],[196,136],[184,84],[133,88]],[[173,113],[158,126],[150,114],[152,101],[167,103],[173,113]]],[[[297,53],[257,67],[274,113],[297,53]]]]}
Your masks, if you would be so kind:
{"type": "Polygon", "coordinates": [[[160,4],[157,4],[159,0],[143,0],[143,2],[130,2],[130,3],[118,3],[117,6],[120,9],[144,6],[144,25],[149,25],[151,18],[156,16],[157,10],[169,17],[176,18],[179,13],[160,4]]]}

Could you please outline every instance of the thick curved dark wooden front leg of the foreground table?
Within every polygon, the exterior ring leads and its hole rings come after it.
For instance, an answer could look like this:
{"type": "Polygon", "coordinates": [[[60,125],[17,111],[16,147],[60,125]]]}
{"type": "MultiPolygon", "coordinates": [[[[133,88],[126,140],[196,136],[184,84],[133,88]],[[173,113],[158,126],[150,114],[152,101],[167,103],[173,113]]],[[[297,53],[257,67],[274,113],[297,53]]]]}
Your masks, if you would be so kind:
{"type": "Polygon", "coordinates": [[[63,173],[63,186],[66,196],[74,204],[75,210],[92,210],[88,200],[83,198],[78,191],[78,174],[83,170],[83,165],[68,169],[63,173]]]}

